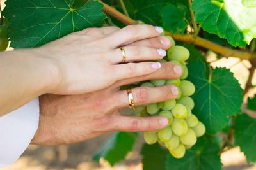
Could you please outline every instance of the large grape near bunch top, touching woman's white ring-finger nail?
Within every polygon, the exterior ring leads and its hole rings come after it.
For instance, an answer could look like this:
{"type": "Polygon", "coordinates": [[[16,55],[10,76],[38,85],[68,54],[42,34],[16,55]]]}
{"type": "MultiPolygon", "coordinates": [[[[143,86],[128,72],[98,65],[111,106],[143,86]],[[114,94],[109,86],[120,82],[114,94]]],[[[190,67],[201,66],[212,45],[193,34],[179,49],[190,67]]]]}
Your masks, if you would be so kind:
{"type": "Polygon", "coordinates": [[[184,62],[188,59],[189,55],[189,50],[184,46],[173,46],[172,50],[168,53],[168,59],[184,62]]]}

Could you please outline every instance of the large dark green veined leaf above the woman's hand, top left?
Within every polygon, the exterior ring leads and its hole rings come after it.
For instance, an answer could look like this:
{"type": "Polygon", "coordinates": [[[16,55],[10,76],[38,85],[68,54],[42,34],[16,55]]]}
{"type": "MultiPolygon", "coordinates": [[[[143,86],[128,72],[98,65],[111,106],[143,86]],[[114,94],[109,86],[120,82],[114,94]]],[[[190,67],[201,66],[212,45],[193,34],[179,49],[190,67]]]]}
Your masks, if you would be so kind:
{"type": "Polygon", "coordinates": [[[90,0],[74,9],[74,0],[8,0],[4,16],[10,21],[13,48],[44,45],[86,27],[100,27],[106,15],[102,4],[90,0]]]}

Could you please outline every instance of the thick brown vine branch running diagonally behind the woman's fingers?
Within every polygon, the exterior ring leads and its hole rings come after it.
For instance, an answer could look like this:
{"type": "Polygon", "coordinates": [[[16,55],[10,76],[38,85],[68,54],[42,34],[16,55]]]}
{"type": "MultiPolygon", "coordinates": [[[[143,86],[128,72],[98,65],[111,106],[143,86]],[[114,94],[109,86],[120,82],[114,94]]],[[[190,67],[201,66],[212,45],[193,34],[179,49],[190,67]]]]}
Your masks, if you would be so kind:
{"type": "MultiPolygon", "coordinates": [[[[116,19],[123,22],[125,25],[131,25],[131,24],[138,24],[139,21],[132,20],[131,18],[125,16],[124,14],[120,13],[120,11],[116,10],[115,8],[112,8],[106,3],[103,3],[102,1],[99,1],[103,5],[103,11],[105,13],[108,13],[109,15],[115,17],[116,19]]],[[[204,38],[200,38],[199,36],[195,37],[193,35],[181,35],[181,34],[175,34],[172,35],[170,32],[166,32],[166,34],[173,36],[173,39],[176,41],[181,41],[184,43],[194,44],[196,46],[200,46],[202,48],[206,48],[209,50],[212,50],[213,52],[219,53],[223,57],[237,57],[240,59],[246,59],[246,60],[255,60],[256,61],[256,53],[250,53],[245,50],[235,50],[232,48],[227,48],[225,46],[218,45],[216,43],[213,43],[212,41],[209,41],[204,38]]]]}

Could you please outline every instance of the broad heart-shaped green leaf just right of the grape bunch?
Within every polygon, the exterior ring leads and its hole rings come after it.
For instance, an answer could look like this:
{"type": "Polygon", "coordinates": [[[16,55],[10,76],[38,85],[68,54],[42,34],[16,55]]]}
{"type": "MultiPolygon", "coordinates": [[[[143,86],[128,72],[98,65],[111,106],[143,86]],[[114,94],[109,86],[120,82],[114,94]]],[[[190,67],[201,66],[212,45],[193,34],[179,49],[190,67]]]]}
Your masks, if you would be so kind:
{"type": "Polygon", "coordinates": [[[204,62],[197,59],[188,64],[188,80],[196,92],[193,113],[205,124],[207,133],[214,134],[228,123],[228,117],[240,111],[243,89],[229,69],[207,71],[204,62]]]}

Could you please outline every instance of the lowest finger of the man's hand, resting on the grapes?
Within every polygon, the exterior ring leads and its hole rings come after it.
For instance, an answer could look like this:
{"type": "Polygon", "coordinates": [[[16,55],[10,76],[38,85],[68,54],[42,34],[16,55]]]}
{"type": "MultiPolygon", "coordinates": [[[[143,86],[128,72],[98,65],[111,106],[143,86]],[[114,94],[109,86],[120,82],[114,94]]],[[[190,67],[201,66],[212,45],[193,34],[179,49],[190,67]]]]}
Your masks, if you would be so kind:
{"type": "Polygon", "coordinates": [[[115,122],[115,131],[147,132],[163,129],[168,125],[168,118],[116,115],[113,122],[115,122]]]}

